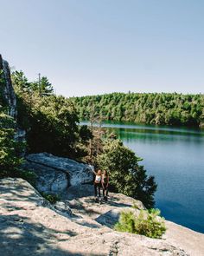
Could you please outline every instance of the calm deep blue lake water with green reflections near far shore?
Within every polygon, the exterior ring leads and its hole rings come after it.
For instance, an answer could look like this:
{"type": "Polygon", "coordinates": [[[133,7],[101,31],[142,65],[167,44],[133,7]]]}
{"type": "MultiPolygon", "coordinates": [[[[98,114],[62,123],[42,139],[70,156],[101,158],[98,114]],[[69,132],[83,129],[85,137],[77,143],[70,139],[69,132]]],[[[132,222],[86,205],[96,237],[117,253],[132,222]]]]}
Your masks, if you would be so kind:
{"type": "Polygon", "coordinates": [[[143,158],[165,219],[204,233],[204,130],[113,121],[103,127],[143,158]]]}

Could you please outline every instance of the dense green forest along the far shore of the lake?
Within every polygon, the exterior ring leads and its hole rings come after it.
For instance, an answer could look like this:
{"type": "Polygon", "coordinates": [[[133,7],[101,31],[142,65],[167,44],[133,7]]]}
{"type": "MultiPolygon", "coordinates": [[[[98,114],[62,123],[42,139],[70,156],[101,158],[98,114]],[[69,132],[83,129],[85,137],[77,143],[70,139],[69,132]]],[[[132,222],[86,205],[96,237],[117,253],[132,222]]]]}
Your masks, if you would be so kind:
{"type": "Polygon", "coordinates": [[[81,120],[135,121],[160,125],[200,126],[204,95],[112,93],[73,97],[81,120]]]}

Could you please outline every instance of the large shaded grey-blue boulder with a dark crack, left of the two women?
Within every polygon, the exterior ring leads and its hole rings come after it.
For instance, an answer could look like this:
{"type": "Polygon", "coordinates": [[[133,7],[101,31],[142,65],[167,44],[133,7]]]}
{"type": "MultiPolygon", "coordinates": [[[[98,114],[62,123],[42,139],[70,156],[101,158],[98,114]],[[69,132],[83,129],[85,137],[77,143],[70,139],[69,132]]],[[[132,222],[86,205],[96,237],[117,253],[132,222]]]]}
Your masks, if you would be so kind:
{"type": "Polygon", "coordinates": [[[53,154],[29,154],[23,167],[37,174],[37,188],[42,192],[61,193],[92,181],[91,166],[53,154]]]}

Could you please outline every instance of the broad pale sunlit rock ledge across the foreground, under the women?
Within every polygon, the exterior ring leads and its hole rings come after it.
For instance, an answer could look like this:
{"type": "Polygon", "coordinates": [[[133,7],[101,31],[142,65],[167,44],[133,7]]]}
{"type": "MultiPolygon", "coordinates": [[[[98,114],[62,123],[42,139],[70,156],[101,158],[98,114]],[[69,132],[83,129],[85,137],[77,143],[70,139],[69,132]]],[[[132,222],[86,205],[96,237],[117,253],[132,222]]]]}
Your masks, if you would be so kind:
{"type": "Polygon", "coordinates": [[[143,204],[123,194],[110,194],[109,202],[99,205],[90,194],[92,186],[69,187],[61,200],[72,207],[73,215],[65,217],[50,208],[28,182],[0,180],[0,255],[203,255],[204,235],[172,222],[167,222],[163,240],[115,232],[105,213],[115,216],[125,207],[135,204],[139,209],[143,204]]]}

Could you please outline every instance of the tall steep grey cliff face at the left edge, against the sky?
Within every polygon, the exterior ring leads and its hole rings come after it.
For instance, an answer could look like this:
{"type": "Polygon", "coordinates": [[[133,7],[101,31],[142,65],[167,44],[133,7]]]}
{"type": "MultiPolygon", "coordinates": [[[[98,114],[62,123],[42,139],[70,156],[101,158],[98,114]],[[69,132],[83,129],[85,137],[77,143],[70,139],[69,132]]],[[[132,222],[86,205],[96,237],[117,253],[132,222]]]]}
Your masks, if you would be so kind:
{"type": "Polygon", "coordinates": [[[9,113],[12,117],[16,118],[16,95],[10,79],[10,67],[9,63],[4,61],[0,55],[0,70],[3,70],[3,83],[0,83],[0,93],[3,93],[3,98],[9,105],[9,113]]]}

